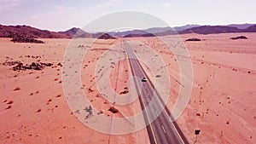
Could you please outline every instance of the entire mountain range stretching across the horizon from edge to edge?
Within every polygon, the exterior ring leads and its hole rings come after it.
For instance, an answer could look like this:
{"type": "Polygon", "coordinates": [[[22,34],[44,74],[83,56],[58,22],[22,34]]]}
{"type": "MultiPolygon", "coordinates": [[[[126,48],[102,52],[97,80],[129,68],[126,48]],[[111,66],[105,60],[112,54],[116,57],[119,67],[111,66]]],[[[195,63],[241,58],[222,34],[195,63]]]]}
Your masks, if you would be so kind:
{"type": "Polygon", "coordinates": [[[109,39],[115,37],[153,37],[172,34],[198,33],[230,33],[230,32],[256,32],[256,24],[232,24],[227,26],[200,26],[186,25],[177,27],[152,27],[144,30],[131,30],[125,32],[97,32],[90,33],[73,27],[65,32],[50,32],[40,30],[32,26],[3,26],[0,25],[0,37],[14,37],[21,34],[34,38],[72,38],[72,37],[96,37],[109,39]]]}

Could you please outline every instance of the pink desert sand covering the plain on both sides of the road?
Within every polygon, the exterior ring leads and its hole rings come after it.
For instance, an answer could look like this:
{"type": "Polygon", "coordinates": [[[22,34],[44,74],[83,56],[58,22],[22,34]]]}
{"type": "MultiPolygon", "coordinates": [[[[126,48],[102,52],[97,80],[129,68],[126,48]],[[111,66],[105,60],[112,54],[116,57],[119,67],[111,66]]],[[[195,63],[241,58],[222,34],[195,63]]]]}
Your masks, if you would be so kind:
{"type": "MultiPolygon", "coordinates": [[[[183,130],[183,134],[190,143],[195,141],[195,130],[201,130],[196,143],[255,143],[256,34],[182,35],[183,40],[191,37],[201,38],[202,41],[184,43],[189,49],[194,77],[189,104],[177,118],[177,124],[183,130]],[[240,35],[248,39],[230,39],[240,35]]],[[[172,36],[162,38],[172,42],[172,36]]],[[[131,45],[136,49],[137,57],[143,61],[143,67],[152,81],[157,81],[160,85],[166,84],[164,78],[166,72],[158,71],[154,66],[159,63],[154,56],[160,57],[168,64],[166,69],[169,72],[167,75],[170,76],[171,85],[163,87],[160,92],[170,91],[166,106],[172,111],[182,85],[177,57],[154,37],[126,39],[143,43],[131,43],[131,45]],[[158,55],[153,55],[152,50],[148,48],[154,49],[158,55]],[[149,66],[150,64],[152,66],[149,66]],[[156,75],[160,75],[160,78],[156,75]]],[[[0,38],[1,142],[148,143],[146,129],[128,135],[108,135],[91,130],[76,118],[76,114],[68,107],[62,89],[62,84],[68,81],[64,79],[63,82],[61,78],[65,71],[61,71],[63,66],[58,66],[58,63],[64,65],[65,49],[70,39],[42,39],[45,43],[37,44],[12,43],[9,40],[9,38],[0,38]],[[38,58],[32,58],[32,55],[38,58]],[[41,71],[18,72],[13,71],[12,66],[3,65],[7,60],[20,60],[24,64],[49,62],[53,63],[53,66],[45,67],[41,71]]],[[[96,90],[96,80],[110,70],[110,84],[103,84],[102,87],[111,87],[119,94],[113,101],[119,100],[120,96],[125,97],[134,93],[134,89],[130,89],[131,69],[128,61],[125,60],[122,40],[96,40],[89,48],[88,43],[95,40],[88,38],[80,46],[74,46],[74,49],[90,49],[81,67],[81,82],[84,94],[91,105],[109,118],[125,118],[141,112],[136,97],[127,105],[113,105],[96,90]],[[118,47],[114,47],[118,44],[118,47]],[[99,60],[103,62],[97,63],[99,60]],[[119,112],[109,112],[108,109],[113,106],[119,112]]],[[[112,124],[106,122],[106,125],[110,125],[111,128],[112,124]]]]}

